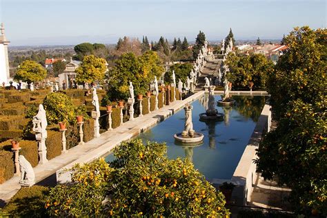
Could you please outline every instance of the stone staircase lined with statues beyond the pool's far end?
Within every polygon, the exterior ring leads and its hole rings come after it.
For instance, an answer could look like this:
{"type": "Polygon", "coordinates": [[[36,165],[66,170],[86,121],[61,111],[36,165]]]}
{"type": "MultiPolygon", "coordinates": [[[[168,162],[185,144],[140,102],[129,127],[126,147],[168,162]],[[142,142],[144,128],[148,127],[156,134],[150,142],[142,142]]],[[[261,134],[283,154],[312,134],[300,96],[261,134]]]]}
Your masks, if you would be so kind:
{"type": "Polygon", "coordinates": [[[195,92],[204,90],[204,85],[206,81],[204,78],[211,78],[212,83],[215,83],[216,77],[218,77],[219,68],[221,66],[222,59],[214,59],[212,61],[207,61],[204,69],[201,71],[201,76],[197,78],[197,86],[195,87],[195,92]]]}

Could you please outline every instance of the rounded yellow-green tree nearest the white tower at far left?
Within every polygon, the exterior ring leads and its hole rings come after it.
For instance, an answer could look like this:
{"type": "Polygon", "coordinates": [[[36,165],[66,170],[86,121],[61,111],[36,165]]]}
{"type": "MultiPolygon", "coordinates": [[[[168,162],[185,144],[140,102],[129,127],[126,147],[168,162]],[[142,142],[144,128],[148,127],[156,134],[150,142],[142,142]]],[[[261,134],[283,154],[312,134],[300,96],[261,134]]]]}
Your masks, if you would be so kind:
{"type": "Polygon", "coordinates": [[[46,78],[46,73],[46,69],[43,68],[41,64],[35,61],[26,60],[17,68],[14,80],[21,80],[30,84],[31,82],[41,81],[46,78]]]}

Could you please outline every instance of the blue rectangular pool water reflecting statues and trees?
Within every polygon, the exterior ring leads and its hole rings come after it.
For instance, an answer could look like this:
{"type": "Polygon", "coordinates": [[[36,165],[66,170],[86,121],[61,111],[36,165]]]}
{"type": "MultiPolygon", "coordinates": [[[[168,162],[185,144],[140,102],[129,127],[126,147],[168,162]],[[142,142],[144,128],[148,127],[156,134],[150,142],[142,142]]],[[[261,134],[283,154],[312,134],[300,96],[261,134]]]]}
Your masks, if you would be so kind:
{"type": "MultiPolygon", "coordinates": [[[[200,121],[199,114],[206,112],[208,95],[192,103],[192,122],[195,132],[204,134],[203,143],[197,146],[180,144],[174,139],[175,133],[184,130],[184,110],[179,110],[168,119],[141,133],[143,141],[166,142],[168,157],[188,158],[195,168],[208,181],[213,179],[231,179],[239,159],[248,144],[256,122],[264,107],[264,96],[232,96],[235,105],[220,107],[218,112],[224,114],[224,121],[200,121]]],[[[215,96],[217,102],[220,96],[215,96]]],[[[112,161],[113,155],[106,157],[112,161]]]]}

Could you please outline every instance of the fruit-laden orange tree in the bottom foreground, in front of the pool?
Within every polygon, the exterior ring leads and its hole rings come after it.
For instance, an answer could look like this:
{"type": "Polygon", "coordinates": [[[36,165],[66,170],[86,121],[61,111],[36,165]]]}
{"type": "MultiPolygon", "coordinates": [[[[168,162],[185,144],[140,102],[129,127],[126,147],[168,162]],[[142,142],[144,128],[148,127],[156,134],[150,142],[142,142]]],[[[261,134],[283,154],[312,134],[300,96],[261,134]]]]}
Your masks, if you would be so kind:
{"type": "Polygon", "coordinates": [[[224,217],[224,195],[187,159],[170,160],[164,143],[123,142],[110,165],[76,166],[72,183],[52,188],[46,208],[58,216],[224,217]]]}

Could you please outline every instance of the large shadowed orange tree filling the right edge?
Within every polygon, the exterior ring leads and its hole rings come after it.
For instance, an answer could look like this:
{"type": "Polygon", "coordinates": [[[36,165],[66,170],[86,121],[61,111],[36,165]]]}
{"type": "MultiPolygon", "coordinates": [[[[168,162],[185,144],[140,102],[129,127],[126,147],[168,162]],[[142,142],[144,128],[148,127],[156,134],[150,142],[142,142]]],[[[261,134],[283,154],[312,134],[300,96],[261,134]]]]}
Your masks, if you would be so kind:
{"type": "Polygon", "coordinates": [[[299,213],[327,215],[326,57],[327,30],[295,28],[286,54],[268,79],[278,126],[259,146],[257,168],[292,189],[299,213]]]}

